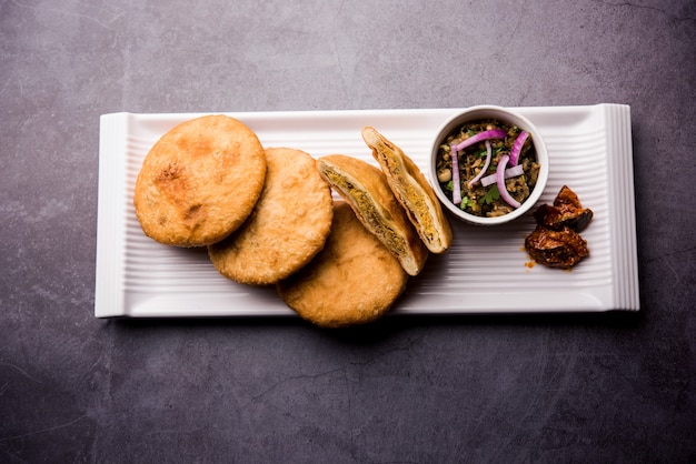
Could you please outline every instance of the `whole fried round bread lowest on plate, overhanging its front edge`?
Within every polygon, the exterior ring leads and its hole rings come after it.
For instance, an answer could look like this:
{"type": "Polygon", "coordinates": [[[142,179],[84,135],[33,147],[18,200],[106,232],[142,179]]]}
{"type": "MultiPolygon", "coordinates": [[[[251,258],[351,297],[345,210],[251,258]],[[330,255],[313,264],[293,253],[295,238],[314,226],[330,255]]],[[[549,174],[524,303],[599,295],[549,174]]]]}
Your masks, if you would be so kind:
{"type": "Polygon", "coordinates": [[[336,201],[324,250],[277,289],[302,319],[321,327],[344,327],[381,317],[407,281],[399,261],[365,229],[350,205],[336,201]]]}

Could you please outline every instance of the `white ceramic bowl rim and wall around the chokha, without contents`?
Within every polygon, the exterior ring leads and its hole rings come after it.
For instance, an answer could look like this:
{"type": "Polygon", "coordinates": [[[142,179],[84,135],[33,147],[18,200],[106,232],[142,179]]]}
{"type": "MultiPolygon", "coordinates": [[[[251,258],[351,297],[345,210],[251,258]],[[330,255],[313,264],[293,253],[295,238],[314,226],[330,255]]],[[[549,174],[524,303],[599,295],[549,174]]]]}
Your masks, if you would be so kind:
{"type": "Polygon", "coordinates": [[[432,141],[429,175],[432,189],[435,190],[437,198],[440,200],[440,203],[443,203],[443,206],[450,211],[457,219],[478,225],[498,225],[524,215],[537,203],[544,192],[544,189],[546,188],[546,182],[548,181],[548,152],[546,151],[546,143],[544,143],[541,134],[531,121],[524,115],[503,107],[477,105],[466,109],[461,113],[451,117],[443,123],[437,132],[437,135],[435,137],[435,140],[432,141]],[[496,218],[484,218],[463,211],[459,206],[453,203],[451,200],[449,200],[445,192],[443,192],[437,180],[437,152],[439,147],[445,140],[447,140],[447,137],[450,133],[458,130],[461,125],[481,119],[496,119],[505,123],[515,124],[527,131],[531,135],[531,142],[534,143],[536,151],[537,162],[539,163],[537,183],[527,200],[525,200],[525,202],[513,212],[496,218]]]}

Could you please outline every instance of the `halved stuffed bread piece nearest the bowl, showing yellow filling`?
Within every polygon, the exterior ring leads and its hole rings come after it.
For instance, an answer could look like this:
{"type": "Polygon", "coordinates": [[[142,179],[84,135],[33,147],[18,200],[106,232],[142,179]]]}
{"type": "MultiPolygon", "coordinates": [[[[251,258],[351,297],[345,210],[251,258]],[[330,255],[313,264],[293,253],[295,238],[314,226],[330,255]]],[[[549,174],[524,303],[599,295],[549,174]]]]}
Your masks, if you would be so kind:
{"type": "Polygon", "coordinates": [[[375,128],[362,129],[362,140],[387,176],[395,196],[428,250],[443,253],[451,245],[451,229],[425,175],[404,151],[375,128]]]}

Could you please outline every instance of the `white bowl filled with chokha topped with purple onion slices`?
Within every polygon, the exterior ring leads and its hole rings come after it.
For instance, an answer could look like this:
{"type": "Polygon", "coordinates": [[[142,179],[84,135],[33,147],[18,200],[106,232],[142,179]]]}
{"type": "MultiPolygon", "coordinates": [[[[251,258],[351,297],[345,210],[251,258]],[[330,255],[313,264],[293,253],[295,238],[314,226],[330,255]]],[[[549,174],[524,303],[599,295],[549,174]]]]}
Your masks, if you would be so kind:
{"type": "Polygon", "coordinates": [[[540,198],[548,153],[536,127],[521,114],[473,107],[438,131],[430,176],[438,199],[455,216],[501,224],[525,214],[540,198]]]}

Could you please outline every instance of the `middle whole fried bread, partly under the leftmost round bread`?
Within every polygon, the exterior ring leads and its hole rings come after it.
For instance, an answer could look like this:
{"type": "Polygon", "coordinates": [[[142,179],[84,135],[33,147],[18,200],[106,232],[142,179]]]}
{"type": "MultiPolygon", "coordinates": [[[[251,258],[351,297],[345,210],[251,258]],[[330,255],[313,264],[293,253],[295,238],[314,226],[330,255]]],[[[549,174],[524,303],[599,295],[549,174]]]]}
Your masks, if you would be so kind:
{"type": "Polygon", "coordinates": [[[334,215],[331,189],[308,153],[266,150],[267,174],[251,215],[235,233],[208,246],[215,268],[239,283],[276,283],[324,246],[334,215]]]}

